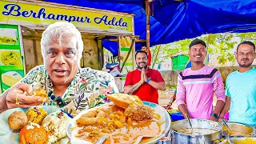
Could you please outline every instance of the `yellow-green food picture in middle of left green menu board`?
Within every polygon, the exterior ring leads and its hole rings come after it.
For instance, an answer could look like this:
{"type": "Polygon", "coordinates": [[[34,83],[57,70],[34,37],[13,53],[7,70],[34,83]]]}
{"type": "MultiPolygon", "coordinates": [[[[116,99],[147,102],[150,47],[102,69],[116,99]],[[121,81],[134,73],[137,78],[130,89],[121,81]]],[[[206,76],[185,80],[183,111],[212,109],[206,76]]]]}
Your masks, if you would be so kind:
{"type": "Polygon", "coordinates": [[[1,61],[4,65],[20,65],[21,58],[18,51],[9,50],[1,53],[1,61]]]}

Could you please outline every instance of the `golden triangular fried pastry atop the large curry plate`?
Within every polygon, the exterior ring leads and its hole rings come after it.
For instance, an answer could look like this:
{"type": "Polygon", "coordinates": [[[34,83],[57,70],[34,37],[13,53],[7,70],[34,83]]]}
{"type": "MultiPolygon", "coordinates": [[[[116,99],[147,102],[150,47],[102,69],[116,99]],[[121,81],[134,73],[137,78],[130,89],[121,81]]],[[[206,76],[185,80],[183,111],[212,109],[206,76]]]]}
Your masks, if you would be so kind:
{"type": "Polygon", "coordinates": [[[143,102],[136,95],[129,94],[107,94],[107,98],[109,98],[115,105],[126,109],[130,105],[142,105],[143,102]]]}

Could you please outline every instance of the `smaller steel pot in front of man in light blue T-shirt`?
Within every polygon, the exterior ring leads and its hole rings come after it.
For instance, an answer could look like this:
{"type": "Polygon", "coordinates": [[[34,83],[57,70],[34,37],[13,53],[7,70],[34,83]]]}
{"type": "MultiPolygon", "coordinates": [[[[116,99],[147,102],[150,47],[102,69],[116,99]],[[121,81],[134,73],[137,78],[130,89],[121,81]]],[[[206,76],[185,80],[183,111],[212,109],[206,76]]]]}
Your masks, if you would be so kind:
{"type": "MultiPolygon", "coordinates": [[[[227,126],[230,127],[231,134],[230,136],[244,136],[244,137],[250,137],[253,135],[254,129],[250,126],[246,126],[240,123],[235,122],[226,122],[227,126]]],[[[226,130],[226,126],[222,126],[223,131],[226,130]]]]}

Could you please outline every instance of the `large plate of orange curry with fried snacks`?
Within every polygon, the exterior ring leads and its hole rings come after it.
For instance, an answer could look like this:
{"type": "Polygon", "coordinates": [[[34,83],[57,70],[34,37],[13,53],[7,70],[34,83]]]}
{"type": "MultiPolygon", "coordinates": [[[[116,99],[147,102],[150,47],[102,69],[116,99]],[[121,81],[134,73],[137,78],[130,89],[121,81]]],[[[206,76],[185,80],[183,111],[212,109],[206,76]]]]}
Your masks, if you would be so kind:
{"type": "Polygon", "coordinates": [[[170,130],[170,116],[162,106],[128,94],[107,97],[112,102],[82,111],[69,122],[72,143],[94,143],[104,135],[104,143],[152,143],[170,130]]]}

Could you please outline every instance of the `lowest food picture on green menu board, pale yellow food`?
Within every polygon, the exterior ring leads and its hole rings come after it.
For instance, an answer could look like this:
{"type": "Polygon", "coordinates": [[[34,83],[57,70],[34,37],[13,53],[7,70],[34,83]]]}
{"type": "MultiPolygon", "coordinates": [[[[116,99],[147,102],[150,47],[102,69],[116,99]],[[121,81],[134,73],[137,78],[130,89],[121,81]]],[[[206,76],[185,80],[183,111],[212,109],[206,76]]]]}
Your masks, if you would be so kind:
{"type": "Polygon", "coordinates": [[[7,86],[14,86],[18,81],[22,79],[22,76],[16,71],[8,71],[2,74],[2,82],[7,86]]]}

